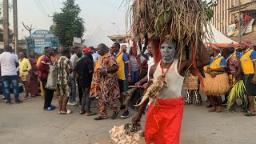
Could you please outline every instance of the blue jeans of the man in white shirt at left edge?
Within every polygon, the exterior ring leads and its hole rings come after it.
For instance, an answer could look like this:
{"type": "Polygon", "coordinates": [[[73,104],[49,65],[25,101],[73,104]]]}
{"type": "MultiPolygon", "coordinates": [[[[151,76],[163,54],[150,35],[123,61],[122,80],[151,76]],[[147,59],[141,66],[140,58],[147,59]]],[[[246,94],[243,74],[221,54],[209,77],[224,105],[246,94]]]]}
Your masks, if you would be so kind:
{"type": "Polygon", "coordinates": [[[4,96],[6,97],[7,102],[10,102],[10,84],[14,87],[14,98],[15,102],[18,102],[18,75],[11,76],[2,76],[2,82],[4,85],[4,96]]]}

